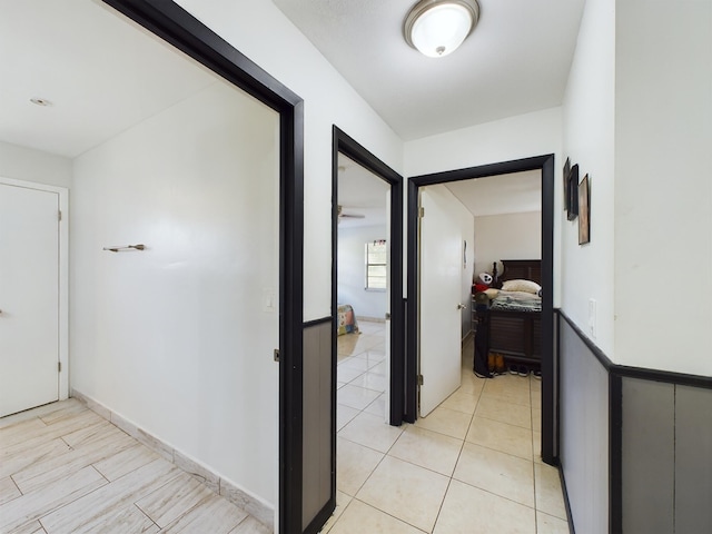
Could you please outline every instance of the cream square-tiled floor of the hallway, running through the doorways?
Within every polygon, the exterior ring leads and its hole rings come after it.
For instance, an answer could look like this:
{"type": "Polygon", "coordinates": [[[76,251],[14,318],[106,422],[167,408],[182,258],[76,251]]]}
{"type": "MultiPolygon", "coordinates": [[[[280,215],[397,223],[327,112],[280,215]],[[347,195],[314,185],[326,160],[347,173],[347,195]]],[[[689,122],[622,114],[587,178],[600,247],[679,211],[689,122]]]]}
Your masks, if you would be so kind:
{"type": "Polygon", "coordinates": [[[382,323],[338,338],[337,507],[323,533],[567,533],[558,472],[543,464],[541,382],[472,373],[415,425],[385,417],[382,323]]]}

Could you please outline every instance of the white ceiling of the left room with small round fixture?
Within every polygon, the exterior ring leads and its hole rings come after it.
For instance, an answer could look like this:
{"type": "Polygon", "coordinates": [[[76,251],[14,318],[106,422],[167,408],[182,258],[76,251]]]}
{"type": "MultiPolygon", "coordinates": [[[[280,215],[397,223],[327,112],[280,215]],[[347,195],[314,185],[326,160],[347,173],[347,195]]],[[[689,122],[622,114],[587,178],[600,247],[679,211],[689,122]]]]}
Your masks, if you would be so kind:
{"type": "Polygon", "coordinates": [[[0,141],[69,158],[218,80],[91,0],[2,1],[0,66],[0,141]]]}

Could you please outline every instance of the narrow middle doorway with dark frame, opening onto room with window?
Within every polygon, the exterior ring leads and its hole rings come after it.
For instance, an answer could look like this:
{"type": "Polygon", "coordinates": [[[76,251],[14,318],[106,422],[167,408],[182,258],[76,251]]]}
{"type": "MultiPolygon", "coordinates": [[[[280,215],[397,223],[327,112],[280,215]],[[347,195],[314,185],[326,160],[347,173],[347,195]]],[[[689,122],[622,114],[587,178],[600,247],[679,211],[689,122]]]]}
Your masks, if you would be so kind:
{"type": "Polygon", "coordinates": [[[403,180],[337,127],[332,177],[336,439],[365,408],[403,421],[403,180]]]}

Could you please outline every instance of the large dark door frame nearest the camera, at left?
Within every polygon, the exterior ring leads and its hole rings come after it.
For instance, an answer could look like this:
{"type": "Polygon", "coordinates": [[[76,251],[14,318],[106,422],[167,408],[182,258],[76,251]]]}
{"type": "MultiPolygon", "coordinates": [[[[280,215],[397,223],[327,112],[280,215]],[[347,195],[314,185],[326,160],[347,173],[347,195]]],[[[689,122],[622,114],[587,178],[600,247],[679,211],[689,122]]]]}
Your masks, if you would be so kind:
{"type": "Polygon", "coordinates": [[[278,515],[279,533],[303,532],[304,102],[175,2],[103,1],[279,112],[278,515]]]}

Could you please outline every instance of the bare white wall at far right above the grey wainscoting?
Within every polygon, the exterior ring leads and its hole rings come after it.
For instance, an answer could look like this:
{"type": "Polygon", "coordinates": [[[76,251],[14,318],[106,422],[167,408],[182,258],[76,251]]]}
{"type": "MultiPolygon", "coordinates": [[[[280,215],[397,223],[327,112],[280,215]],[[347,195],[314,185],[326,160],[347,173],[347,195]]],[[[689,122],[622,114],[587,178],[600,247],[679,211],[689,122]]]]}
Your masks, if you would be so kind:
{"type": "Polygon", "coordinates": [[[616,2],[615,359],[712,376],[712,2],[669,8],[616,2]]]}

